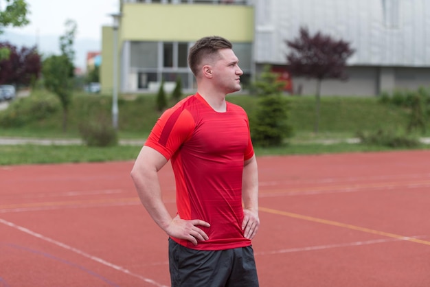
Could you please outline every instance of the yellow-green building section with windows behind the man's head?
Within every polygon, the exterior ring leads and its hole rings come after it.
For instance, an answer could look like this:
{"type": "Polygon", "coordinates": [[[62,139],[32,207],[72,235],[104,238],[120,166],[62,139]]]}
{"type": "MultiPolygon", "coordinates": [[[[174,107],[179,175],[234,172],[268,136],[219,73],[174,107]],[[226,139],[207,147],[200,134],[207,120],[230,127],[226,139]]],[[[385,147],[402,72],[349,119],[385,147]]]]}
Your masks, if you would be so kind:
{"type": "MultiPolygon", "coordinates": [[[[251,77],[253,6],[246,0],[122,0],[118,27],[118,87],[121,93],[154,92],[161,79],[167,91],[181,78],[184,90],[195,88],[188,49],[208,35],[234,44],[244,80],[251,77]]],[[[102,92],[113,89],[112,27],[102,28],[102,92]]]]}

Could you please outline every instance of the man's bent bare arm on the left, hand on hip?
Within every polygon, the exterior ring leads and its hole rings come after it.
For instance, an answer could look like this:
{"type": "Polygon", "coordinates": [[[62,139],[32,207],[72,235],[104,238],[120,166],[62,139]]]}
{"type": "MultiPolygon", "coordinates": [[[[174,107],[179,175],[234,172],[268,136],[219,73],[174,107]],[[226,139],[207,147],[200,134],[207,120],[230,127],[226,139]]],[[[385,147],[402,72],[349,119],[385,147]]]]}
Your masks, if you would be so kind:
{"type": "Polygon", "coordinates": [[[197,240],[207,240],[207,235],[198,226],[209,227],[203,220],[182,220],[179,216],[172,218],[161,196],[158,171],[166,165],[167,159],[160,152],[144,146],[139,152],[131,178],[135,183],[137,194],[152,219],[166,231],[168,236],[185,239],[197,244],[197,240]]]}

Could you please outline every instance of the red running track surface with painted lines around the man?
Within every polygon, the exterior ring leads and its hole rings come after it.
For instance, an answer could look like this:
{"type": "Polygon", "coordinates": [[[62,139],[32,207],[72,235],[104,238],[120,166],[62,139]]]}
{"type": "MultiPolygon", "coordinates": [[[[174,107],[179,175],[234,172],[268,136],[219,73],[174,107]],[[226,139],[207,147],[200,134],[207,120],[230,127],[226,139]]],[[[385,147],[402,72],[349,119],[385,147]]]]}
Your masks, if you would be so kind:
{"type": "MultiPolygon", "coordinates": [[[[0,287],[169,286],[133,162],[0,167],[0,287]]],[[[259,157],[260,286],[430,286],[430,151],[259,157]]],[[[174,213],[170,167],[160,172],[174,213]]]]}

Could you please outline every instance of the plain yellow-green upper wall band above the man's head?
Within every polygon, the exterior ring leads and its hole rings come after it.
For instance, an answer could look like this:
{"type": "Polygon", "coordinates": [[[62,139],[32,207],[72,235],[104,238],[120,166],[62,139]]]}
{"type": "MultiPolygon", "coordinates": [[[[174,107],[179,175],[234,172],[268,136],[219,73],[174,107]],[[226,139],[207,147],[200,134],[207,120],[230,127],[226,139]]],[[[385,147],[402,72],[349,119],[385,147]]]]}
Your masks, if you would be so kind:
{"type": "Polygon", "coordinates": [[[253,41],[252,6],[124,3],[122,14],[123,41],[192,42],[213,35],[253,41]]]}

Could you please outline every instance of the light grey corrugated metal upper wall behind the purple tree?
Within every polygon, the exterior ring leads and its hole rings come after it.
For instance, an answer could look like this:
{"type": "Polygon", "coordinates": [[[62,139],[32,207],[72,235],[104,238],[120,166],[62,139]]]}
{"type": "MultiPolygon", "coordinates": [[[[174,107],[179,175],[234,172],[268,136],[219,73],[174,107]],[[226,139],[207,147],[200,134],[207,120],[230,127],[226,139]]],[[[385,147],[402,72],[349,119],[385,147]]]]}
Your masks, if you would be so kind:
{"type": "Polygon", "coordinates": [[[429,0],[257,0],[256,62],[286,64],[285,41],[308,27],[351,43],[360,66],[430,67],[429,0]]]}

